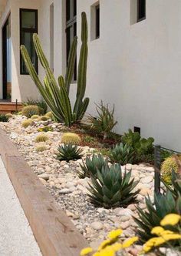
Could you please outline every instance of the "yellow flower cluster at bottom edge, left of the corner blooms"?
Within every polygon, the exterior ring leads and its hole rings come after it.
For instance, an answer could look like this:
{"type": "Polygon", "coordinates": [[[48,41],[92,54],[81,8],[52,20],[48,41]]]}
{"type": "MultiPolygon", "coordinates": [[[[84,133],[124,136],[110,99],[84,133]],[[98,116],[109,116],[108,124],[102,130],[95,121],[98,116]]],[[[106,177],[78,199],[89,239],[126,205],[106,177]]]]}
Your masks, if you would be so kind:
{"type": "Polygon", "coordinates": [[[97,251],[93,248],[84,248],[81,251],[81,256],[116,256],[119,251],[121,255],[127,255],[125,249],[130,248],[138,241],[138,237],[131,237],[126,241],[120,241],[120,235],[123,234],[121,229],[110,231],[107,235],[107,240],[103,241],[98,247],[97,251]]]}

